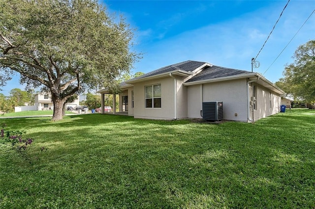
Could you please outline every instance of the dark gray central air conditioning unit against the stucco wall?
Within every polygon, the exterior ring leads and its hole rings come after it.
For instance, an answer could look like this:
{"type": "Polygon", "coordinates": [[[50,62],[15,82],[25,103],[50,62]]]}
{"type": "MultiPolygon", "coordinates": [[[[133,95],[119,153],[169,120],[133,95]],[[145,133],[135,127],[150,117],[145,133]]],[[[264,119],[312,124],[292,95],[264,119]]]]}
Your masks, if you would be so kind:
{"type": "Polygon", "coordinates": [[[223,102],[203,102],[202,119],[206,121],[223,120],[223,102]]]}

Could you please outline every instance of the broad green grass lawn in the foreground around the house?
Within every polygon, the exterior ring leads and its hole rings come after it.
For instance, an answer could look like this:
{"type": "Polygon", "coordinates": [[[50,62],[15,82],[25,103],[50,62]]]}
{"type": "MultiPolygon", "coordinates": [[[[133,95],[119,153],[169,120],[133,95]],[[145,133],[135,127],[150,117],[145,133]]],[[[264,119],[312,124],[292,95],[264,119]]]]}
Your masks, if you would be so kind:
{"type": "Polygon", "coordinates": [[[1,155],[1,209],[315,208],[315,110],[254,124],[104,114],[3,122],[35,141],[32,164],[1,155]]]}

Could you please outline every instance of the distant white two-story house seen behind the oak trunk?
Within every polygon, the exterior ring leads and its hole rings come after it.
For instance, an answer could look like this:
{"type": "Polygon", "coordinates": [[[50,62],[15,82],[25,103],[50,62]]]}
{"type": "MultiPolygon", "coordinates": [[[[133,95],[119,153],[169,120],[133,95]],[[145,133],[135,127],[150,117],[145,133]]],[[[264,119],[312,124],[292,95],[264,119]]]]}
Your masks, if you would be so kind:
{"type": "MultiPolygon", "coordinates": [[[[72,106],[72,107],[76,107],[78,105],[79,105],[79,96],[73,103],[66,104],[66,106],[72,106]]],[[[54,109],[54,103],[52,102],[51,96],[48,93],[36,94],[34,106],[36,107],[36,110],[54,109]]]]}

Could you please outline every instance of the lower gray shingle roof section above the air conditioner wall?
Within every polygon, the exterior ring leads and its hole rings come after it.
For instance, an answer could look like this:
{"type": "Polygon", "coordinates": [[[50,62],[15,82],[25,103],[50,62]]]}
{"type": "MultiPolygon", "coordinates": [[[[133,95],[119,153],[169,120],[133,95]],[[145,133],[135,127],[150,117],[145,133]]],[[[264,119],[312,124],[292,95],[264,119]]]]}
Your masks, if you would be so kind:
{"type": "Polygon", "coordinates": [[[187,80],[186,83],[192,82],[192,81],[198,81],[198,80],[237,76],[237,75],[250,74],[250,73],[252,72],[244,71],[244,70],[236,70],[232,68],[224,68],[224,67],[213,65],[212,67],[203,69],[200,73],[198,73],[194,77],[187,80]]]}

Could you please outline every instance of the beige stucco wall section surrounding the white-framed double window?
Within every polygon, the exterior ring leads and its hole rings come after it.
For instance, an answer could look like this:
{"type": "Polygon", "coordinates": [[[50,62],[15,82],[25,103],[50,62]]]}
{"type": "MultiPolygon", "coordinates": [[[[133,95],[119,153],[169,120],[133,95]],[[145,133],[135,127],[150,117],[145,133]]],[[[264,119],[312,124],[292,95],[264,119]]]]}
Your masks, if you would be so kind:
{"type": "MultiPolygon", "coordinates": [[[[145,82],[135,83],[134,90],[134,109],[135,118],[147,119],[166,119],[174,118],[174,79],[159,78],[145,82]],[[145,86],[161,84],[161,108],[145,108],[145,86]]],[[[131,97],[131,92],[130,95],[131,97]]]]}

